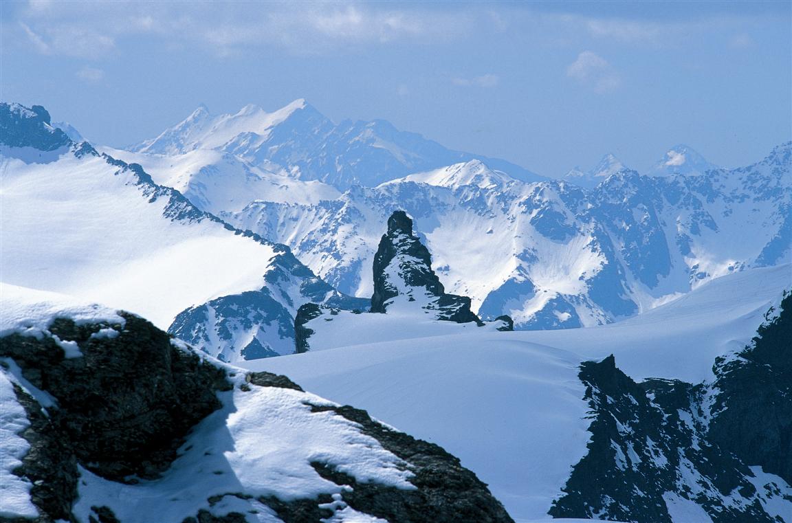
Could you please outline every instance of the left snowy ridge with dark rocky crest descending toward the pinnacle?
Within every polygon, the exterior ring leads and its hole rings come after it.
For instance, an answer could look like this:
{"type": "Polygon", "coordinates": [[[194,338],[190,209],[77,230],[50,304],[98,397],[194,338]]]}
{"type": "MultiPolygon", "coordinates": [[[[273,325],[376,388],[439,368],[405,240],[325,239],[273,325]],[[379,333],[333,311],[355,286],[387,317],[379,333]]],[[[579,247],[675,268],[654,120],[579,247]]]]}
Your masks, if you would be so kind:
{"type": "MultiPolygon", "coordinates": [[[[52,133],[32,110],[6,116],[29,122],[20,139],[35,144],[52,133]]],[[[299,305],[343,301],[285,245],[200,210],[140,165],[63,139],[46,161],[3,143],[0,281],[101,301],[160,328],[185,309],[254,292],[268,297],[267,314],[281,320],[249,326],[248,341],[276,352],[293,350],[289,329],[299,305]]],[[[244,347],[206,348],[233,360],[244,347]]]]}

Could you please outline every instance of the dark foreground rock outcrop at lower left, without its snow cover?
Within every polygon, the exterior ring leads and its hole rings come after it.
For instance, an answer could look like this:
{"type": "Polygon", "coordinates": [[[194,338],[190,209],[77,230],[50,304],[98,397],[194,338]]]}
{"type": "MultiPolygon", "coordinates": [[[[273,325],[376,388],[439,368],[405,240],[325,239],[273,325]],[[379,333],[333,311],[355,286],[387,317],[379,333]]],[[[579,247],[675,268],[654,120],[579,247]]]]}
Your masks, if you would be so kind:
{"type": "MultiPolygon", "coordinates": [[[[383,449],[402,460],[411,472],[408,481],[415,488],[398,488],[379,483],[378,479],[360,481],[343,472],[338,464],[317,457],[311,466],[329,485],[335,486],[334,491],[344,487],[343,494],[300,497],[299,493],[292,493],[296,498],[280,499],[254,495],[239,487],[240,491],[208,495],[204,508],[192,509],[195,510],[192,515],[161,523],[249,521],[246,517],[249,510],[222,508],[223,504],[234,506],[234,503],[236,506],[258,503],[262,510],[272,510],[272,514],[286,523],[332,518],[345,507],[361,516],[400,523],[512,521],[486,485],[439,446],[383,426],[365,411],[329,404],[303,392],[287,377],[266,372],[239,375],[224,370],[203,361],[192,349],[173,341],[147,320],[128,313],[119,315],[124,318],[124,325],[74,324],[73,320],[57,319],[44,335],[12,334],[0,338],[3,358],[0,372],[12,373],[23,380],[20,383],[24,388],[12,382],[17,401],[25,408],[29,421],[20,435],[30,449],[22,458],[21,467],[13,473],[32,485],[30,498],[40,514],[34,520],[5,517],[0,520],[55,523],[86,521],[87,517],[88,523],[126,523],[128,518],[120,510],[126,510],[126,502],[139,503],[138,499],[110,496],[106,505],[97,502],[77,512],[79,499],[89,495],[84,489],[91,487],[86,485],[97,481],[86,477],[81,480],[81,473],[85,472],[80,467],[109,480],[102,483],[103,488],[117,482],[131,489],[149,489],[150,493],[150,486],[158,482],[150,483],[147,479],[162,474],[159,480],[162,481],[178,473],[169,465],[177,458],[177,448],[196,423],[223,405],[228,408],[227,402],[238,394],[253,394],[256,388],[277,388],[302,395],[296,401],[298,404],[302,401],[303,408],[310,406],[308,415],[340,416],[348,420],[345,423],[351,421],[352,426],[360,427],[356,430],[374,438],[383,449]],[[77,344],[82,355],[66,357],[61,343],[71,342],[77,344]],[[229,392],[218,396],[220,391],[229,392]]],[[[272,405],[272,411],[278,411],[276,405],[272,405]]],[[[221,427],[221,432],[226,430],[222,423],[221,427]]],[[[301,444],[291,442],[291,445],[301,444]]],[[[191,447],[181,448],[180,455],[191,447]]],[[[178,471],[179,467],[175,469],[178,471]]]]}

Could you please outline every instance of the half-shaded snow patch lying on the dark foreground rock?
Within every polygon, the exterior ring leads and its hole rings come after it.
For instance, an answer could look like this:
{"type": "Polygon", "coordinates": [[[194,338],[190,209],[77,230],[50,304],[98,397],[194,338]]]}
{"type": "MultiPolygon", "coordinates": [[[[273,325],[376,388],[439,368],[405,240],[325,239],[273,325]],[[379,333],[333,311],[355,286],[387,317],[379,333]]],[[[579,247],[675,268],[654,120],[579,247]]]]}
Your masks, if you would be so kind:
{"type": "Polygon", "coordinates": [[[336,465],[360,482],[415,488],[408,482],[412,473],[406,464],[361,434],[356,423],[332,411],[311,412],[309,404],[328,405],[326,400],[287,388],[244,392],[240,378],[234,392],[220,395],[223,408],[196,426],[162,479],[125,485],[81,468],[74,514],[88,521],[91,506],[107,505],[124,523],[182,521],[200,509],[216,516],[236,510],[251,523],[280,521],[261,503],[234,494],[288,501],[344,491],[319,476],[311,461],[336,465]],[[227,504],[210,509],[207,499],[212,496],[224,497],[227,504]],[[260,512],[250,514],[252,510],[260,512]]]}

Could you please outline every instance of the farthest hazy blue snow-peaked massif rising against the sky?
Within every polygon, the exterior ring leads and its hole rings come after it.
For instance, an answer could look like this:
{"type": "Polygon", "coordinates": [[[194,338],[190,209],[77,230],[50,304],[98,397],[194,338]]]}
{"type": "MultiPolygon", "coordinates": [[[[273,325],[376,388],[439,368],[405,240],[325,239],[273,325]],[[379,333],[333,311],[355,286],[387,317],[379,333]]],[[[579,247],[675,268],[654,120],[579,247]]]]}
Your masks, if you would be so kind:
{"type": "Polygon", "coordinates": [[[342,190],[474,159],[518,180],[546,180],[505,160],[449,150],[382,119],[335,124],[303,99],[271,113],[247,105],[234,115],[212,116],[202,105],[158,137],[129,147],[166,155],[197,149],[222,150],[261,168],[342,190]]]}

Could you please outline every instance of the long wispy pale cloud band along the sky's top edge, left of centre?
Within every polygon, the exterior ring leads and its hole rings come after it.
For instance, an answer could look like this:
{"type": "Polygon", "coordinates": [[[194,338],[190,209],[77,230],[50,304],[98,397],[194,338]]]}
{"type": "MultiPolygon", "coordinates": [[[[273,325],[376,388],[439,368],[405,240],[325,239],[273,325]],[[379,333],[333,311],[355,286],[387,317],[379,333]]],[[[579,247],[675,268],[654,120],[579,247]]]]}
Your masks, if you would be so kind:
{"type": "Polygon", "coordinates": [[[36,51],[96,58],[140,34],[203,44],[219,55],[272,45],[323,53],[346,45],[426,44],[470,34],[484,14],[359,2],[40,1],[19,17],[36,51]]]}

